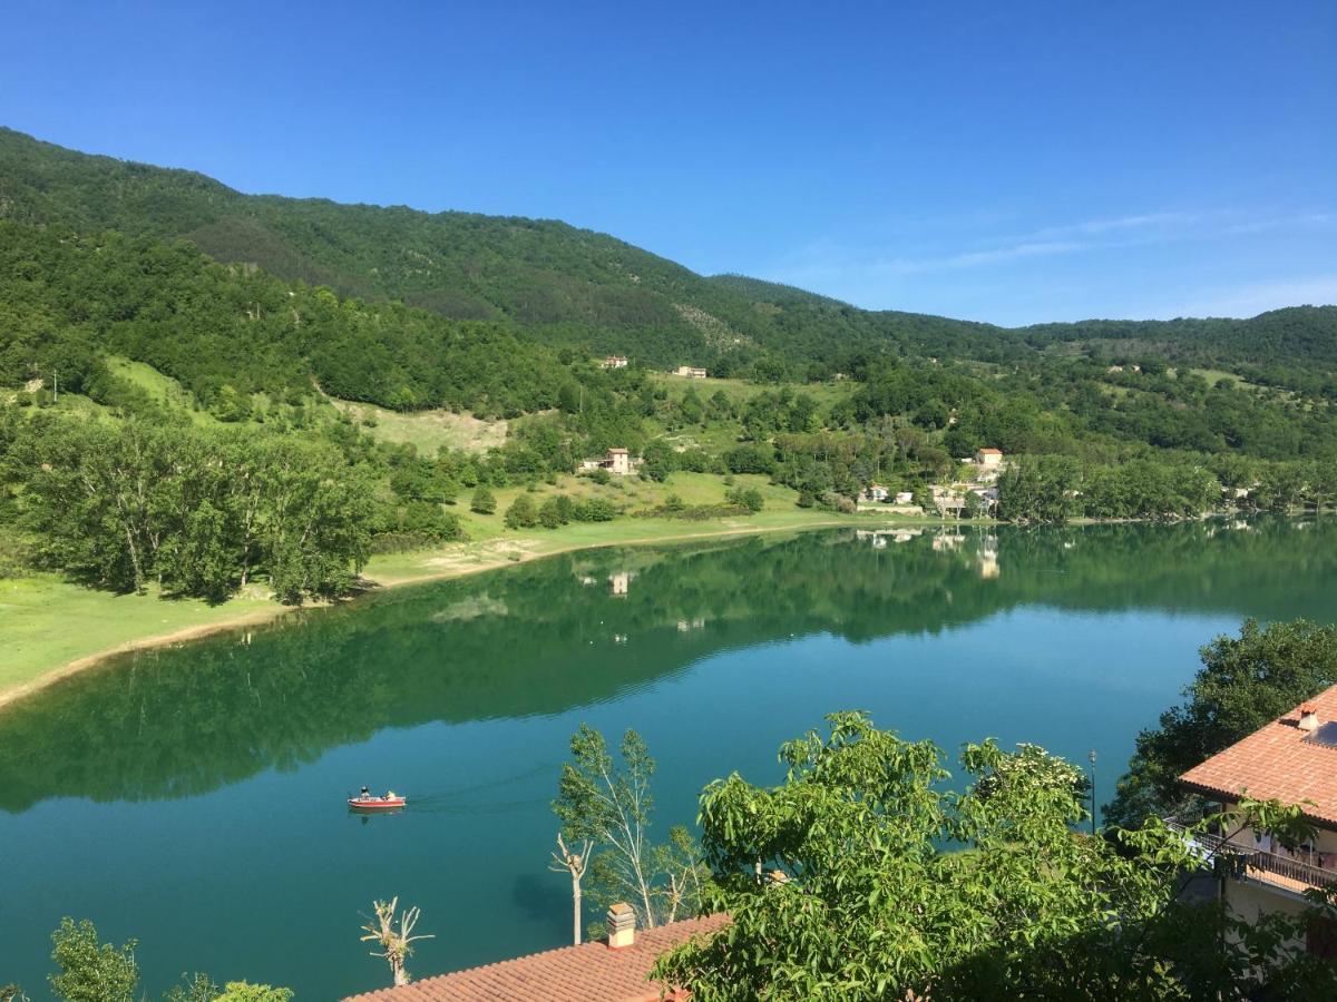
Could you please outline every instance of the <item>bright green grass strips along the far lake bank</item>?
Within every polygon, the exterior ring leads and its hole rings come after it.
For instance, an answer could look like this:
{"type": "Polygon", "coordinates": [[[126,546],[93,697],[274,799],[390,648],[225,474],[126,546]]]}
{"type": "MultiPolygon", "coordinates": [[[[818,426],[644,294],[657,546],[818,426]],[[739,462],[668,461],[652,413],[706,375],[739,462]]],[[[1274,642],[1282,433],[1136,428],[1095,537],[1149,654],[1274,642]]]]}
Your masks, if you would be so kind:
{"type": "MultiPolygon", "coordinates": [[[[500,522],[500,518],[496,518],[500,522]]],[[[619,518],[578,522],[555,530],[479,533],[469,542],[433,550],[373,557],[364,576],[382,588],[479,573],[556,553],[594,546],[840,525],[909,524],[882,514],[842,516],[793,506],[749,517],[682,521],[619,518]]],[[[925,520],[919,520],[921,524],[925,520]]],[[[936,520],[932,520],[936,524],[936,520]]],[[[290,612],[258,595],[210,605],[194,599],[111,595],[71,584],[55,574],[0,580],[0,707],[126,651],[159,647],[221,629],[262,623],[290,612]]]]}

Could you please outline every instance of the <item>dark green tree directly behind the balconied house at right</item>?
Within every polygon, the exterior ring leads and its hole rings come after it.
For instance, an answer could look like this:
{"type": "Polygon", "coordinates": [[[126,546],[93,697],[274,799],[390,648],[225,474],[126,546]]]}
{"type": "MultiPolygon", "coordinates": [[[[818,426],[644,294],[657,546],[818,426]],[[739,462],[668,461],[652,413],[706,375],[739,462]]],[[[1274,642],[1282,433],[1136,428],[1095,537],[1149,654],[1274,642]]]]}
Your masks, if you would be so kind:
{"type": "Polygon", "coordinates": [[[1186,800],[1181,774],[1337,684],[1337,627],[1308,620],[1245,620],[1238,637],[1219,636],[1199,655],[1186,701],[1138,735],[1107,822],[1136,827],[1148,815],[1175,812],[1186,800]]]}

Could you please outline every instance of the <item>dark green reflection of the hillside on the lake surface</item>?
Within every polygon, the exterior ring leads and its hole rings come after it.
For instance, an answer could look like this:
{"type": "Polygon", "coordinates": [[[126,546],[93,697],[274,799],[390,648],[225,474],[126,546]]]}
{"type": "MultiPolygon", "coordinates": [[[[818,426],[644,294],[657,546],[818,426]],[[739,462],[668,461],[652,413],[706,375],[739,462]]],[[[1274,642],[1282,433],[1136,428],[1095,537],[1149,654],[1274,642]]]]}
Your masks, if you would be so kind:
{"type": "Polygon", "coordinates": [[[1333,525],[840,530],[592,550],[389,592],[130,656],[13,707],[0,806],[206,792],[385,727],[562,712],[816,632],[932,633],[1028,604],[1322,617],[1333,525]]]}

